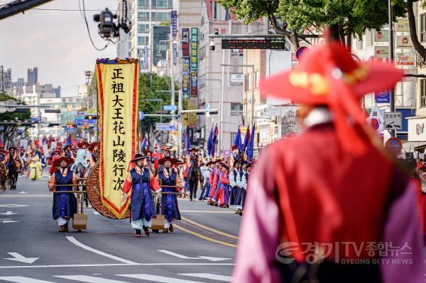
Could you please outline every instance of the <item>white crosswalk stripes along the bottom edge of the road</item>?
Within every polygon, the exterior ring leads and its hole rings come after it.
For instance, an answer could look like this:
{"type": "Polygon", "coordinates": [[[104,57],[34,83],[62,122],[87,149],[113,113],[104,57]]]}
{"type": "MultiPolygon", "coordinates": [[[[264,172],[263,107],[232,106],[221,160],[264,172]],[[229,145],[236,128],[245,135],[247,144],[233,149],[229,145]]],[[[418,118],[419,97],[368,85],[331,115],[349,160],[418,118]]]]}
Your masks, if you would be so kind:
{"type": "MultiPolygon", "coordinates": [[[[200,279],[209,279],[214,281],[230,282],[231,277],[224,276],[214,273],[180,273],[177,274],[180,276],[187,277],[197,277],[200,279]]],[[[132,279],[139,279],[144,282],[160,282],[160,283],[204,283],[200,281],[192,281],[187,279],[179,279],[175,277],[165,277],[151,274],[115,274],[114,276],[127,277],[132,279]]],[[[103,277],[94,277],[87,275],[53,275],[57,279],[55,281],[33,279],[30,277],[22,276],[1,276],[0,282],[14,282],[14,283],[57,283],[58,279],[68,279],[75,282],[85,282],[85,283],[131,283],[128,281],[121,281],[118,279],[106,279],[103,277]]],[[[60,282],[63,282],[60,280],[60,282]]]]}

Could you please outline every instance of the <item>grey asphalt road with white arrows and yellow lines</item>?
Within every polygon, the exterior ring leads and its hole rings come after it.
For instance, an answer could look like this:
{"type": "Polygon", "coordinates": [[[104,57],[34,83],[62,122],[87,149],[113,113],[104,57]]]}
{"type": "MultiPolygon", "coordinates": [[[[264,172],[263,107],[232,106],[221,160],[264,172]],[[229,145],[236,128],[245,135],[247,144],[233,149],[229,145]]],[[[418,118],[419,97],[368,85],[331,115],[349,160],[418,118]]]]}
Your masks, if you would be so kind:
{"type": "MultiPolygon", "coordinates": [[[[136,238],[129,219],[85,209],[86,231],[58,233],[48,173],[0,192],[0,282],[229,282],[241,216],[180,200],[174,233],[136,238]]],[[[199,192],[200,193],[200,192],[199,192]]],[[[70,228],[72,225],[70,225],[70,228]]]]}

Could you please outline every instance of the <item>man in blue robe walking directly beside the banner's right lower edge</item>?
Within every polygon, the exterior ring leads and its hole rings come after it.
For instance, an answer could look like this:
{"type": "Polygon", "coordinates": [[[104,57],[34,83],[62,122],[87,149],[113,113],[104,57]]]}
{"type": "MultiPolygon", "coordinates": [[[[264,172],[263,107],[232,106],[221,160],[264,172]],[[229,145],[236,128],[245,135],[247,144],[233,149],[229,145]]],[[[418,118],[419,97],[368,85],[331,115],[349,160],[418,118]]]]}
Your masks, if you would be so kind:
{"type": "Polygon", "coordinates": [[[136,230],[136,237],[141,237],[141,229],[149,236],[151,219],[155,217],[153,193],[151,192],[151,179],[153,174],[144,167],[146,156],[136,154],[131,162],[134,168],[129,171],[123,187],[123,202],[131,192],[131,226],[136,230]]]}

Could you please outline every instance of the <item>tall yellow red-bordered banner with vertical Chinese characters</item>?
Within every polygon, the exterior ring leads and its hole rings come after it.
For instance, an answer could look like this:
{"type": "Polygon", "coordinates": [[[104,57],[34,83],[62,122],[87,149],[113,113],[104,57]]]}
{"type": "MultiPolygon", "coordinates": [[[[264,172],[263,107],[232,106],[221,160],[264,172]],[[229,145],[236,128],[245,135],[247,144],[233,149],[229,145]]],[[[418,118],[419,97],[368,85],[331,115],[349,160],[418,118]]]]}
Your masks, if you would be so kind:
{"type": "Polygon", "coordinates": [[[117,218],[129,207],[121,190],[136,153],[138,121],[138,60],[97,60],[101,157],[99,186],[102,204],[117,218]]]}

